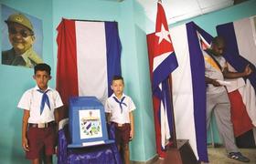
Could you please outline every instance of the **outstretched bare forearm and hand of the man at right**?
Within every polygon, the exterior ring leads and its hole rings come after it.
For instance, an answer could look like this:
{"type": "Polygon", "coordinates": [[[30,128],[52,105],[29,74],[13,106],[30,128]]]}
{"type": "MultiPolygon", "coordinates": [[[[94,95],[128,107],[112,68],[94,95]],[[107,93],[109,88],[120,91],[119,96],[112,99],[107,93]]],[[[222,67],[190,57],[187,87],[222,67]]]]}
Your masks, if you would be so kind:
{"type": "Polygon", "coordinates": [[[229,72],[229,68],[225,67],[222,73],[225,78],[239,78],[247,77],[251,74],[251,72],[251,67],[247,65],[243,72],[229,72]]]}

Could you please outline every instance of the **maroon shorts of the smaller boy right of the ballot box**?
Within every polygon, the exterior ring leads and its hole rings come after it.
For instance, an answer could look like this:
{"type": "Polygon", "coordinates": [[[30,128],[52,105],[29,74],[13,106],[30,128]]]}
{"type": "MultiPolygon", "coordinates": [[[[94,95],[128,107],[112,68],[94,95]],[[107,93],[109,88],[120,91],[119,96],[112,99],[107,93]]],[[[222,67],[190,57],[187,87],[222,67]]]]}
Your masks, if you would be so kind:
{"type": "Polygon", "coordinates": [[[130,141],[131,125],[129,123],[119,126],[117,123],[113,123],[115,127],[115,142],[118,145],[128,144],[130,141]]]}

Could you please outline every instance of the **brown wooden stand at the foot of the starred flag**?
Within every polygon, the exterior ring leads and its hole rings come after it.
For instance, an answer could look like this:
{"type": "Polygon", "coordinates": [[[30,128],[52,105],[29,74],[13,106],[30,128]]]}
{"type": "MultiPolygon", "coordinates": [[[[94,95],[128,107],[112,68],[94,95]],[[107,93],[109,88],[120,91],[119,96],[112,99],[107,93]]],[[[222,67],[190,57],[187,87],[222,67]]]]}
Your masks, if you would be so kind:
{"type": "Polygon", "coordinates": [[[193,150],[191,149],[187,139],[177,139],[176,148],[168,148],[164,164],[197,164],[193,150]]]}

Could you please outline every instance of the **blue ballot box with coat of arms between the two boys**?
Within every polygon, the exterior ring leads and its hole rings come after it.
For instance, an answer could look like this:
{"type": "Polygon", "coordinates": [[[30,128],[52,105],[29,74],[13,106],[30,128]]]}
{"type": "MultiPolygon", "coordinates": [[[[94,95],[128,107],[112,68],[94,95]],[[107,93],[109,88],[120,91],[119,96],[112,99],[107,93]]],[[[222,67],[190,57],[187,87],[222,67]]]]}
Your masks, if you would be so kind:
{"type": "Polygon", "coordinates": [[[97,97],[69,98],[69,135],[68,148],[114,142],[108,137],[104,107],[97,97]]]}

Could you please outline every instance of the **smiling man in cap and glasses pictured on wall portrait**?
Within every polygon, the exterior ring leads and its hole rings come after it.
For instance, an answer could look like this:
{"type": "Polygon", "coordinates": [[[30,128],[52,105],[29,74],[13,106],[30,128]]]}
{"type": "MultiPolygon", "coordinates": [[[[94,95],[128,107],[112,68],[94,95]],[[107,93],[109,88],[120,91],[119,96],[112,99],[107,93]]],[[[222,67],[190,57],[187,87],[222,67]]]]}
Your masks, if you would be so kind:
{"type": "Polygon", "coordinates": [[[16,13],[9,15],[5,23],[8,26],[9,41],[13,47],[2,52],[2,64],[34,67],[38,63],[43,63],[42,58],[32,47],[36,37],[29,19],[21,13],[16,13]]]}

